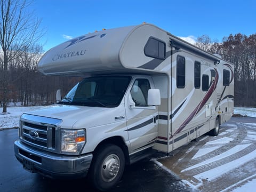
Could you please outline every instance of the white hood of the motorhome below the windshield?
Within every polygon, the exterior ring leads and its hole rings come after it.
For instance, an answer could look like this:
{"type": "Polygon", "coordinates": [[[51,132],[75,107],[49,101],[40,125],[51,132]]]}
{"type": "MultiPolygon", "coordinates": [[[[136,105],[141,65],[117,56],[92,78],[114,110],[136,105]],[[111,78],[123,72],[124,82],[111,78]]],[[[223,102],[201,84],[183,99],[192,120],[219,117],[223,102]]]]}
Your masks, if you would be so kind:
{"type": "Polygon", "coordinates": [[[61,124],[62,128],[82,129],[86,127],[94,127],[107,123],[113,123],[115,121],[115,117],[120,116],[118,115],[120,114],[119,107],[102,108],[70,105],[51,105],[43,107],[41,109],[30,111],[26,114],[61,119],[63,122],[61,124]],[[76,126],[76,124],[79,126],[76,126]]]}

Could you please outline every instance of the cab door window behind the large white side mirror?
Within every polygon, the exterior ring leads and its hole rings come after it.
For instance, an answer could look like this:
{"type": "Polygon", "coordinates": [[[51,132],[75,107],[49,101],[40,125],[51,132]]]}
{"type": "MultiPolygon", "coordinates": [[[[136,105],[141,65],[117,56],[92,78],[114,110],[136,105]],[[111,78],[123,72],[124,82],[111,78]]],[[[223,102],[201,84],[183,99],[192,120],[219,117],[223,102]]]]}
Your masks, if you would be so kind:
{"type": "Polygon", "coordinates": [[[150,84],[148,79],[136,79],[131,89],[132,100],[135,102],[135,106],[137,107],[148,106],[147,100],[148,100],[149,89],[150,89],[150,84]]]}

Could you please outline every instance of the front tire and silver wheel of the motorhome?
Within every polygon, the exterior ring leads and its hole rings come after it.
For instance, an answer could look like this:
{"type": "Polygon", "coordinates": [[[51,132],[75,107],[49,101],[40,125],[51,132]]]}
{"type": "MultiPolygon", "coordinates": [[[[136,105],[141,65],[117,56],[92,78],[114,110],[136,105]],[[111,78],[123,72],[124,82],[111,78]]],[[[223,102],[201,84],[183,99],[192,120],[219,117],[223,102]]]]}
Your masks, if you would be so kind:
{"type": "Polygon", "coordinates": [[[125,158],[122,149],[116,145],[100,147],[90,167],[89,177],[94,188],[106,191],[117,185],[124,172],[125,158]]]}

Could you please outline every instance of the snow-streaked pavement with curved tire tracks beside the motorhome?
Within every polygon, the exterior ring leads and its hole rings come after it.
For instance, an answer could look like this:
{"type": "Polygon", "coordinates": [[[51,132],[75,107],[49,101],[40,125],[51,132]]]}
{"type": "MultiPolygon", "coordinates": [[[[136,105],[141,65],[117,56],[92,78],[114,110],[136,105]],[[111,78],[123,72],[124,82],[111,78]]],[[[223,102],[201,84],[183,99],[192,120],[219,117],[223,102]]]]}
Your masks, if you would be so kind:
{"type": "Polygon", "coordinates": [[[217,137],[204,135],[157,161],[196,191],[232,191],[255,182],[256,118],[232,117],[217,137]]]}

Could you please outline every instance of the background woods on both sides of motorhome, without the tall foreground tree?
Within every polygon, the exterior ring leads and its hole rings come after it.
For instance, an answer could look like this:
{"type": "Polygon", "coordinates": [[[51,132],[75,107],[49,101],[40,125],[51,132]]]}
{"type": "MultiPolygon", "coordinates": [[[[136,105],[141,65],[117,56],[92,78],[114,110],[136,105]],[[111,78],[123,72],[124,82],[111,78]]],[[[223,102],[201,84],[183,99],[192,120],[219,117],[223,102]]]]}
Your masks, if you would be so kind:
{"type": "MultiPolygon", "coordinates": [[[[235,65],[235,106],[256,107],[256,34],[223,37],[222,43],[212,42],[210,37],[198,37],[196,46],[217,53],[235,65]]],[[[9,62],[7,70],[8,102],[22,105],[49,105],[55,102],[58,89],[67,93],[81,78],[44,76],[36,65],[43,54],[42,46],[33,46],[18,54],[9,62]]],[[[1,56],[0,56],[1,58],[1,56]]],[[[3,62],[0,74],[3,77],[3,62]]],[[[3,79],[0,79],[0,101],[3,101],[3,79]],[[2,81],[1,81],[2,80],[2,81]]]]}

